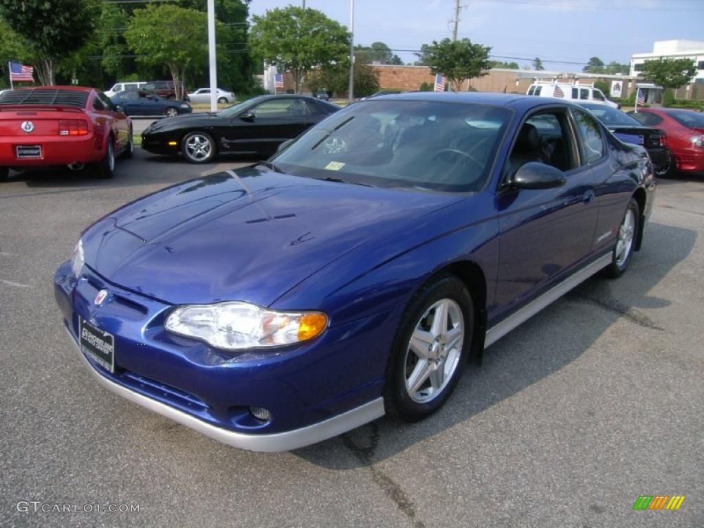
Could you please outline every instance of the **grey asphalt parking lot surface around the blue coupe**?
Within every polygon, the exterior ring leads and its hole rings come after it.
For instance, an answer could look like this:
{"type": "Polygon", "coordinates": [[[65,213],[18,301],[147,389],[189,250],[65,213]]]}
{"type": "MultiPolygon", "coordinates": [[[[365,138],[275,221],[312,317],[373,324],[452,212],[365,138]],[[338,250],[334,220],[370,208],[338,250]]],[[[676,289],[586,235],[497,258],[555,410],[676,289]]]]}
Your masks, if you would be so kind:
{"type": "Polygon", "coordinates": [[[239,164],[138,151],[113,180],[0,184],[1,526],[704,526],[704,178],[660,182],[627,275],[589,279],[491,346],[429,420],[256,454],[97,386],[51,288],[97,218],[239,164]],[[686,499],[634,511],[640,495],[686,499]]]}

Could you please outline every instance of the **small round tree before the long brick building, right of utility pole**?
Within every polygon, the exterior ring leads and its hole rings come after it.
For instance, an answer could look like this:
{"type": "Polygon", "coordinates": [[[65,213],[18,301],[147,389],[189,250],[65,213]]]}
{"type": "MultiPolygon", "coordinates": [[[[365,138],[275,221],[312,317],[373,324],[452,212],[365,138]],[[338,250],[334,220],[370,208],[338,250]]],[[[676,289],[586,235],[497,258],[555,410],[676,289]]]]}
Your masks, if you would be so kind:
{"type": "Polygon", "coordinates": [[[433,41],[425,50],[421,48],[422,61],[432,73],[445,75],[455,90],[462,82],[489,73],[491,47],[472,44],[470,39],[433,41]]]}

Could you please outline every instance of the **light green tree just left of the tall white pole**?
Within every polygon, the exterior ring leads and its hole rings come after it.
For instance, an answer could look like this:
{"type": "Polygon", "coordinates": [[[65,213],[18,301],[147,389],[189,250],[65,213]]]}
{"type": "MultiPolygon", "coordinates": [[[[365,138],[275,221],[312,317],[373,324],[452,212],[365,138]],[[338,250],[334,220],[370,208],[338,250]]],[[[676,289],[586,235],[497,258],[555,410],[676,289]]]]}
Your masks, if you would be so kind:
{"type": "MultiPolygon", "coordinates": [[[[218,29],[222,31],[222,23],[218,29]]],[[[168,67],[177,99],[183,96],[179,81],[184,81],[188,69],[208,64],[208,15],[201,11],[149,4],[134,10],[125,38],[137,62],[168,67]]]]}

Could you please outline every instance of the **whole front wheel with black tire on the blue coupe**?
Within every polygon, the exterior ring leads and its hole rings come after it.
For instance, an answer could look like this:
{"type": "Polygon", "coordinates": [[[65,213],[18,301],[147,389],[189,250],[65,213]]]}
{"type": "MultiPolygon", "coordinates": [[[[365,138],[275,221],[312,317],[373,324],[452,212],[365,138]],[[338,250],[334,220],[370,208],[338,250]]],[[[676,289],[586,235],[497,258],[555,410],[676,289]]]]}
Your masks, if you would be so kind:
{"type": "Polygon", "coordinates": [[[407,422],[432,415],[450,397],[472,343],[474,304],[465,285],[441,275],[413,296],[386,366],[386,413],[407,422]]]}

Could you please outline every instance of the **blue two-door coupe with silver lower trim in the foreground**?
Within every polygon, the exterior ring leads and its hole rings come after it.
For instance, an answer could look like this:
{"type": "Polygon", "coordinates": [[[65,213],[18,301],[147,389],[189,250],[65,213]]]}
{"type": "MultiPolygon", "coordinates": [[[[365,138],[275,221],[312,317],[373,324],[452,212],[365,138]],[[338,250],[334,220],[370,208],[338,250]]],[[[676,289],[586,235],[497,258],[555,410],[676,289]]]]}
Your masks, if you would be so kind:
{"type": "Polygon", "coordinates": [[[362,101],[106,215],[56,300],[100,384],[232,446],[419,420],[486,346],[627,270],[653,207],[643,154],[564,101],[362,101]]]}

